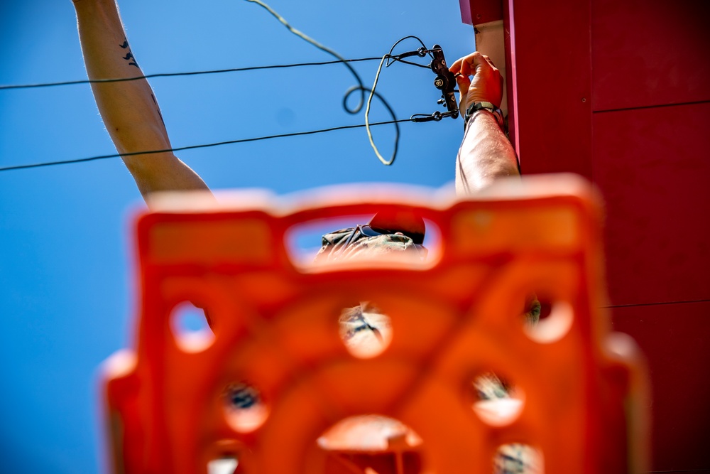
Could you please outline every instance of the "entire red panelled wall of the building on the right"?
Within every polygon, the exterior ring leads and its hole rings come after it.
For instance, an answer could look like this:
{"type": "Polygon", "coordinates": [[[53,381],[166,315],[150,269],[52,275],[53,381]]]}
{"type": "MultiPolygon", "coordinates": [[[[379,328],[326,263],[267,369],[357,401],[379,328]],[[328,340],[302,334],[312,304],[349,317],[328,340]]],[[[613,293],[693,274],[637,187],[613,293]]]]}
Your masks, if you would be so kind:
{"type": "Polygon", "coordinates": [[[523,173],[573,171],[599,185],[614,304],[678,303],[616,310],[650,363],[652,468],[710,469],[700,441],[710,358],[698,338],[710,307],[683,303],[710,298],[710,3],[503,6],[510,137],[523,173]]]}

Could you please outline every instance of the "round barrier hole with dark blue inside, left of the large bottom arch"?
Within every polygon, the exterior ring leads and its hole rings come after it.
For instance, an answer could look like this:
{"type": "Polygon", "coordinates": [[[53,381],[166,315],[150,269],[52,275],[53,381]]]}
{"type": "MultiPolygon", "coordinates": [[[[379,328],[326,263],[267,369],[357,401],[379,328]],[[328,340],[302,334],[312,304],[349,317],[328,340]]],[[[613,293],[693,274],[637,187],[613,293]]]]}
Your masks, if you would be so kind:
{"type": "Polygon", "coordinates": [[[268,417],[268,407],[258,389],[246,382],[235,382],[223,392],[224,415],[234,431],[249,433],[268,417]]]}

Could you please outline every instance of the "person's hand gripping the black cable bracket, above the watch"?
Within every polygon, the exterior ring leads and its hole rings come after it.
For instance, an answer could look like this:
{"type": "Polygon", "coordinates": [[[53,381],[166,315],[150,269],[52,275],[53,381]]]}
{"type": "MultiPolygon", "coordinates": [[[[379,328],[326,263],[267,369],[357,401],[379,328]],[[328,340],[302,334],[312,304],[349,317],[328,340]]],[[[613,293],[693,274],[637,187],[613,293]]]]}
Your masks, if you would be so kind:
{"type": "Polygon", "coordinates": [[[491,102],[496,107],[501,107],[503,77],[491,58],[476,51],[457,60],[449,70],[457,75],[461,117],[464,116],[466,107],[474,102],[491,102]],[[474,76],[473,80],[469,79],[470,75],[474,76]]]}

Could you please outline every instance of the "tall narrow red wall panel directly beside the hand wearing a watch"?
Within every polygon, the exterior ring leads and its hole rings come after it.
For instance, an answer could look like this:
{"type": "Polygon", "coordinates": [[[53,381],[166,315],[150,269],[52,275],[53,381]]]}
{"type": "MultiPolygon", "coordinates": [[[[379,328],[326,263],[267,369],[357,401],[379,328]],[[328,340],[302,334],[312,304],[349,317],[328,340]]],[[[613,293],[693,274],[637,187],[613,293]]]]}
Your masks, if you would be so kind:
{"type": "Polygon", "coordinates": [[[510,1],[520,167],[591,178],[589,0],[510,1]]]}

